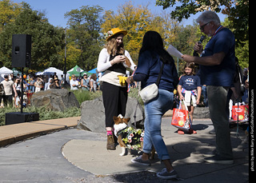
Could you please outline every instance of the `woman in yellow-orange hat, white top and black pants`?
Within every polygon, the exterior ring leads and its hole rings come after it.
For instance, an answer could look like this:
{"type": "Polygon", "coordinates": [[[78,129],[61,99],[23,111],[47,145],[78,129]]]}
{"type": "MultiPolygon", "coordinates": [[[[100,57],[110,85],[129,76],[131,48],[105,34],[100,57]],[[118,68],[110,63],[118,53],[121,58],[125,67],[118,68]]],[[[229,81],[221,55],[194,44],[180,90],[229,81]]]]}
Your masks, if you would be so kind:
{"type": "Polygon", "coordinates": [[[134,70],[135,64],[130,58],[128,51],[124,49],[123,37],[126,30],[114,28],[108,31],[106,36],[106,46],[98,56],[98,72],[104,72],[100,82],[102,82],[102,97],[106,116],[106,149],[114,150],[113,117],[126,114],[127,85],[121,85],[118,77],[126,76],[126,68],[130,66],[134,70]],[[128,62],[127,62],[128,59],[128,62]]]}

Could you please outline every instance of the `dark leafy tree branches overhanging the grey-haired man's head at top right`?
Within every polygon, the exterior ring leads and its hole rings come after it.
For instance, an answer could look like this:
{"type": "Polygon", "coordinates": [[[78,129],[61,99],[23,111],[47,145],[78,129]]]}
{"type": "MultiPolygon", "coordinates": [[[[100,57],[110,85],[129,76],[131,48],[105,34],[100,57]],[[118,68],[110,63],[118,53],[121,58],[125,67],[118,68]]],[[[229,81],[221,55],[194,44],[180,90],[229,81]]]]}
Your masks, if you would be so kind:
{"type": "Polygon", "coordinates": [[[175,6],[170,13],[179,22],[203,10],[214,10],[226,14],[230,19],[230,29],[234,29],[238,43],[249,38],[249,0],[156,0],[163,9],[175,6]]]}

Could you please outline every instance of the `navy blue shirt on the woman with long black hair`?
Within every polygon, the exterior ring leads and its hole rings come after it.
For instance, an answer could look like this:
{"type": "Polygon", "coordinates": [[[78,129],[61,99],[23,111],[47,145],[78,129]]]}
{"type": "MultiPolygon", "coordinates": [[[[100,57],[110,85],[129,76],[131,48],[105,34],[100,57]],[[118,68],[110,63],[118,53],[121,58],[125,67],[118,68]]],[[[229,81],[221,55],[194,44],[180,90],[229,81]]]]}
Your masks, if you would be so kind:
{"type": "MultiPolygon", "coordinates": [[[[149,86],[158,80],[158,74],[160,73],[162,61],[158,54],[150,53],[150,51],[143,52],[138,58],[138,68],[135,74],[144,74],[145,79],[142,81],[142,89],[149,86]]],[[[135,80],[135,76],[134,76],[135,80]]],[[[136,81],[136,80],[135,80],[136,81]]],[[[174,91],[174,83],[178,83],[178,74],[174,62],[171,64],[165,64],[162,70],[162,77],[158,89],[174,91]]]]}

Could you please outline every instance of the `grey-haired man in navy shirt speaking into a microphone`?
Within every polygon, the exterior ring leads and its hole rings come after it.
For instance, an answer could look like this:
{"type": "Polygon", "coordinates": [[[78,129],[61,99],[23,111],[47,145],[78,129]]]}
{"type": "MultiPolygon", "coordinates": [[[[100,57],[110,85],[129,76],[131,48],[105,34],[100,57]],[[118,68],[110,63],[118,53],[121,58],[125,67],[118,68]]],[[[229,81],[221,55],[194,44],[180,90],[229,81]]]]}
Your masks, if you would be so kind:
{"type": "Polygon", "coordinates": [[[232,164],[233,154],[230,143],[229,117],[226,106],[228,90],[234,86],[235,73],[234,34],[223,27],[214,11],[206,10],[197,19],[202,33],[211,37],[203,50],[196,43],[194,50],[201,57],[183,55],[186,62],[195,62],[200,66],[202,85],[207,86],[210,118],[216,133],[216,150],[213,156],[206,157],[209,163],[232,164]]]}

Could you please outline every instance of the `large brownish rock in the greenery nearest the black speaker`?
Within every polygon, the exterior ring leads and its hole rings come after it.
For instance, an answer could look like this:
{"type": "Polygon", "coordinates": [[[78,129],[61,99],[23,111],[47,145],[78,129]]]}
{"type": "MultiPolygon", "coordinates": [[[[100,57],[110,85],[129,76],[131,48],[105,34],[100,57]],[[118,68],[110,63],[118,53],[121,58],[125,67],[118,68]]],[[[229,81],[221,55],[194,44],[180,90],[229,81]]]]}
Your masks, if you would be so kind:
{"type": "Polygon", "coordinates": [[[46,106],[64,112],[70,107],[79,107],[79,102],[74,93],[66,89],[51,89],[34,93],[31,98],[31,105],[36,107],[46,106]]]}

